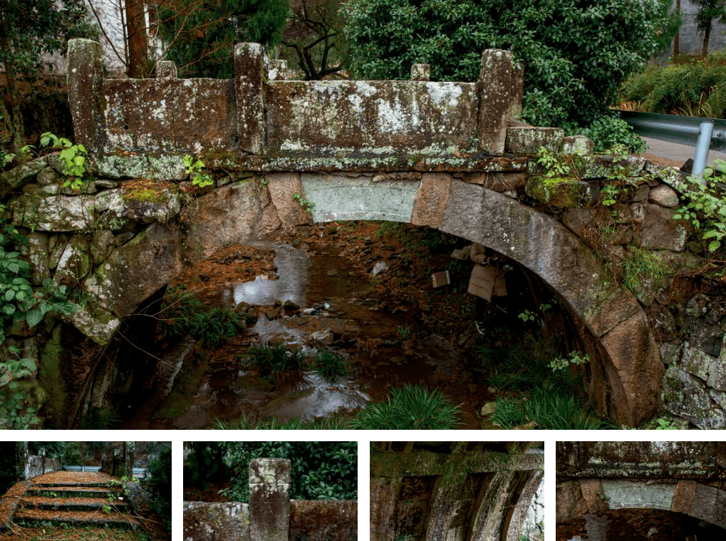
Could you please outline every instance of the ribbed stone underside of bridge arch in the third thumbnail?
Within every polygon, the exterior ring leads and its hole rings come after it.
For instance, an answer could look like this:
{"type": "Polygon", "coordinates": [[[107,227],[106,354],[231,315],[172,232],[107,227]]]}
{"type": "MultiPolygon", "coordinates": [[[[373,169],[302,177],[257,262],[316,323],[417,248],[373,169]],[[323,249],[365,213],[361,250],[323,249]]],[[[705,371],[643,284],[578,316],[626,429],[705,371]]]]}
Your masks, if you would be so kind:
{"type": "Polygon", "coordinates": [[[373,541],[518,541],[544,477],[541,442],[374,442],[373,541]]]}

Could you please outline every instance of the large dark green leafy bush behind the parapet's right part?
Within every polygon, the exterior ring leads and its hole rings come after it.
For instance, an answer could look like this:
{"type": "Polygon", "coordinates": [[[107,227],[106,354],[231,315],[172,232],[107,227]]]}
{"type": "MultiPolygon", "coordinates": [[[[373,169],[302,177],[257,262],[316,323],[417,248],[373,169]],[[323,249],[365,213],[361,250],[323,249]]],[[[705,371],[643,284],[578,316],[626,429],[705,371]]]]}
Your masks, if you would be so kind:
{"type": "Polygon", "coordinates": [[[351,68],[356,77],[400,79],[427,62],[434,81],[476,81],[484,49],[510,49],[524,68],[523,118],[587,126],[658,49],[666,2],[351,0],[351,68]]]}

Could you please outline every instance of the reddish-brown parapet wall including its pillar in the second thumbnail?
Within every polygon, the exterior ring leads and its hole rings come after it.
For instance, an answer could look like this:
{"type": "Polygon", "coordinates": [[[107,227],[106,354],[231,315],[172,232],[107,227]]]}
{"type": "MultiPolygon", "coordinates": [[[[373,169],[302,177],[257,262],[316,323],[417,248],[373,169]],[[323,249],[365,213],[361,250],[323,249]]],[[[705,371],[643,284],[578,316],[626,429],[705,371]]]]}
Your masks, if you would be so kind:
{"type": "Polygon", "coordinates": [[[290,500],[290,482],[290,460],[251,460],[250,503],[184,502],[184,540],[357,541],[357,502],[290,500]]]}

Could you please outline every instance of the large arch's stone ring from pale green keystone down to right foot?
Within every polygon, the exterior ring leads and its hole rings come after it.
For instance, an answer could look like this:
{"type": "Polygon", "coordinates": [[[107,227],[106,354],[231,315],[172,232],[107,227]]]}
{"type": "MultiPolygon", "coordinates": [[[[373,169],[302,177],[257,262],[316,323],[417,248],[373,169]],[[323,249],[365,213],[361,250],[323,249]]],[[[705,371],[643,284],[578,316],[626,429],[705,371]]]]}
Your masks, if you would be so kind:
{"type": "Polygon", "coordinates": [[[302,175],[313,221],[426,225],[518,261],[566,301],[605,352],[609,411],[636,426],[658,407],[664,365],[645,311],[576,235],[544,213],[448,174],[419,180],[302,175]]]}

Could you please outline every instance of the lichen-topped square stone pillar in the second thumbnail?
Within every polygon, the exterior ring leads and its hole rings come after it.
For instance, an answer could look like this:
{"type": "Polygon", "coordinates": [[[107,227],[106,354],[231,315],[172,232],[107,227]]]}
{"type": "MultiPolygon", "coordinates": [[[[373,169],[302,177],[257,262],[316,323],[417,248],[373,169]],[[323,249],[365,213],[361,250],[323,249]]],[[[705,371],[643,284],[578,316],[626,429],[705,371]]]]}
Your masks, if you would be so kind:
{"type": "Polygon", "coordinates": [[[287,541],[290,460],[250,460],[250,541],[287,541]]]}

